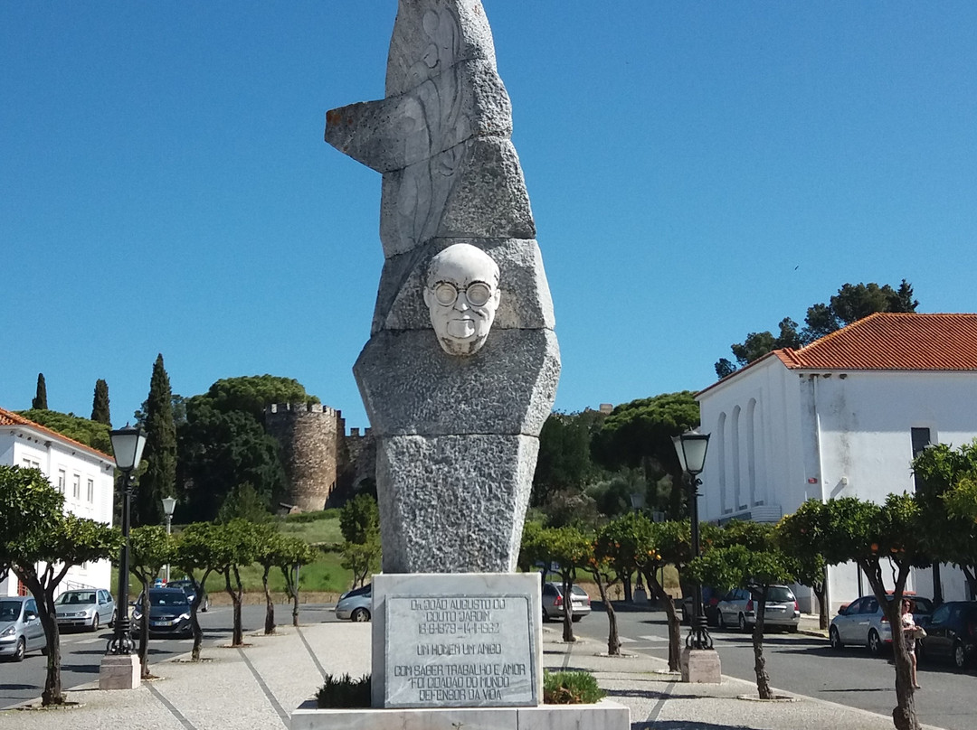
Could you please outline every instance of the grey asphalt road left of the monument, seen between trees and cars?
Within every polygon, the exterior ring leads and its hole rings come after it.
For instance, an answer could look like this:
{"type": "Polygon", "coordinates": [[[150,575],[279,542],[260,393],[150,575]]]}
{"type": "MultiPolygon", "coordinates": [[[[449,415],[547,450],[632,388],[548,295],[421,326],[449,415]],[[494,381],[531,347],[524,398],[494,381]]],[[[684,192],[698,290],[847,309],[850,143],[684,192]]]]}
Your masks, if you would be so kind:
{"type": "MultiPolygon", "coordinates": [[[[278,624],[291,623],[290,605],[276,605],[275,610],[278,624]]],[[[230,643],[231,632],[234,629],[230,606],[214,606],[207,613],[198,616],[200,628],[203,629],[205,657],[209,647],[230,643]]],[[[335,621],[335,616],[330,607],[303,606],[301,620],[335,621]]],[[[244,625],[245,636],[247,633],[263,631],[265,606],[263,604],[244,606],[241,622],[244,625]]],[[[111,629],[104,629],[97,633],[72,631],[62,634],[62,686],[65,690],[98,681],[102,657],[105,656],[106,644],[111,636],[111,629]]],[[[191,639],[151,639],[150,667],[155,662],[186,654],[190,652],[192,646],[191,639]]],[[[0,710],[39,698],[44,691],[46,674],[47,657],[36,651],[28,654],[20,663],[0,663],[0,710]]]]}

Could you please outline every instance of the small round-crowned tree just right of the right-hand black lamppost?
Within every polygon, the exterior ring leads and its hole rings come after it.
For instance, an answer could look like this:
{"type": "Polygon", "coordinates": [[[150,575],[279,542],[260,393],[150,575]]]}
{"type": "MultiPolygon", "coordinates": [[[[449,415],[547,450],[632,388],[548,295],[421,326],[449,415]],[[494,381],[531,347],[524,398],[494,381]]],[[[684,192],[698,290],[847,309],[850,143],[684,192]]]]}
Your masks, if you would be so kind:
{"type": "Polygon", "coordinates": [[[731,522],[717,533],[713,548],[689,563],[690,576],[716,588],[747,588],[755,606],[753,670],[761,700],[774,699],[763,654],[764,620],[770,587],[797,581],[798,567],[780,549],[775,527],[760,522],[731,522]]]}

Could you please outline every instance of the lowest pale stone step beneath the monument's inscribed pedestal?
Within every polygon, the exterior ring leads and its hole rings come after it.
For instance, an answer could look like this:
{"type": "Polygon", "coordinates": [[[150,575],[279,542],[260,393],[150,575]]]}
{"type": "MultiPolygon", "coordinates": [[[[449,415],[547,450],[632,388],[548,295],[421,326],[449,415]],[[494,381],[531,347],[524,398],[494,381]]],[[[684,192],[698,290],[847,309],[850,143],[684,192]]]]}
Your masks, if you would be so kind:
{"type": "Polygon", "coordinates": [[[411,708],[292,712],[291,730],[628,730],[631,712],[602,700],[596,705],[540,705],[535,708],[411,708]]]}

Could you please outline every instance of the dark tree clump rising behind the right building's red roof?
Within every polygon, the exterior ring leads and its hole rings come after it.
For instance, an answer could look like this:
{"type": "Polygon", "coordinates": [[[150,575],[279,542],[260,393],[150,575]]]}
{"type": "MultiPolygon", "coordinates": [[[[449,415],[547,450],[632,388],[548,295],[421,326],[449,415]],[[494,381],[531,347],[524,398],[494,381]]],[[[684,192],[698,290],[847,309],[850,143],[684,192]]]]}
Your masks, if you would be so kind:
{"type": "MultiPolygon", "coordinates": [[[[784,347],[810,345],[815,340],[839,330],[845,325],[864,319],[875,312],[914,312],[919,302],[913,299],[913,286],[903,279],[898,289],[889,284],[845,284],[828,304],[812,304],[804,318],[805,327],[797,330],[797,323],[790,318],[781,320],[780,335],[770,332],[751,332],[743,343],[730,345],[737,363],[744,367],[768,352],[784,347]]],[[[725,378],[737,370],[726,358],[715,364],[716,375],[725,378]]]]}

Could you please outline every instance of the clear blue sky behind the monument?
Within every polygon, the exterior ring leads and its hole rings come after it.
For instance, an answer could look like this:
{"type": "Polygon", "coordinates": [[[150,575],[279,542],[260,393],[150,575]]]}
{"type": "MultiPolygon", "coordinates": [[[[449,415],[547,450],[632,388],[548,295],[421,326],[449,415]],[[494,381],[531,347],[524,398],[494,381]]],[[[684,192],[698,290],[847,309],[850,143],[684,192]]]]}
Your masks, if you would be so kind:
{"type": "MultiPolygon", "coordinates": [[[[556,407],[715,380],[845,282],[975,311],[977,4],[485,0],[557,316],[556,407]]],[[[324,142],[383,96],[396,3],[0,4],[0,407],[120,425],[352,366],[380,177],[324,142]]]]}

